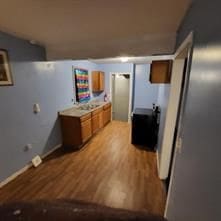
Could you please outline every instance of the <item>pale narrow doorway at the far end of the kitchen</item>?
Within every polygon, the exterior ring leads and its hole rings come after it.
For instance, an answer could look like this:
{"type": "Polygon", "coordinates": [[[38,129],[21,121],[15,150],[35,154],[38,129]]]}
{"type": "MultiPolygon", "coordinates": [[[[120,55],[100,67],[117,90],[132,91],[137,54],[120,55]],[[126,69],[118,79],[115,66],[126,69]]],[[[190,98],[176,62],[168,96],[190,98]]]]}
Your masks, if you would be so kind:
{"type": "Polygon", "coordinates": [[[111,73],[112,119],[128,122],[130,118],[130,85],[129,73],[111,73]]]}

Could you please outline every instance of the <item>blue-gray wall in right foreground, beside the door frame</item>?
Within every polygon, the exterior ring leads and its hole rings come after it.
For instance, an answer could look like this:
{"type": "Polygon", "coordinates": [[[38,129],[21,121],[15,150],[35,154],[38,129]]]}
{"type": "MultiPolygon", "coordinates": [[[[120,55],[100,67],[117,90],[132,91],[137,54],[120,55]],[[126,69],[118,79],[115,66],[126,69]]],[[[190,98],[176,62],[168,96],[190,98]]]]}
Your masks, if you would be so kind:
{"type": "Polygon", "coordinates": [[[178,33],[194,30],[190,83],[167,217],[170,221],[221,219],[221,1],[195,0],[178,33]]]}

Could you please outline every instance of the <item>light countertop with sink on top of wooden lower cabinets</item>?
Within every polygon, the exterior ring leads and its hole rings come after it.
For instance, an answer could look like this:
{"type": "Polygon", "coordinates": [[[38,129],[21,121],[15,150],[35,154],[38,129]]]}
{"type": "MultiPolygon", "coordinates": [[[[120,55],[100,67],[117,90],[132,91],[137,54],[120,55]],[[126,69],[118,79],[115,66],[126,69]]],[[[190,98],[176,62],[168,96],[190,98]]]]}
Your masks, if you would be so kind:
{"type": "Polygon", "coordinates": [[[95,107],[91,110],[81,110],[81,109],[78,109],[81,105],[84,105],[84,104],[80,104],[80,105],[73,105],[73,107],[71,108],[68,108],[68,109],[65,109],[63,111],[60,111],[59,112],[59,115],[61,116],[69,116],[69,117],[82,117],[86,114],[89,114],[91,112],[93,112],[94,110],[97,110],[101,107],[103,107],[105,104],[108,104],[110,103],[109,101],[108,102],[95,102],[95,103],[91,103],[91,104],[95,104],[95,105],[99,105],[98,107],[95,107]]]}

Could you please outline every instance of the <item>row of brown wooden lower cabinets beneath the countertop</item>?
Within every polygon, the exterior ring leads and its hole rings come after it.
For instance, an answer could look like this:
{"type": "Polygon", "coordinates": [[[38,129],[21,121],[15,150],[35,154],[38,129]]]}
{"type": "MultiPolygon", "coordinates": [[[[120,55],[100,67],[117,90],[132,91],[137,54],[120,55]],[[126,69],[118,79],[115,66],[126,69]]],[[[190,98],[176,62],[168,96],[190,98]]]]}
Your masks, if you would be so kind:
{"type": "Polygon", "coordinates": [[[111,104],[106,104],[82,117],[60,115],[60,120],[63,145],[80,147],[111,121],[111,104]]]}

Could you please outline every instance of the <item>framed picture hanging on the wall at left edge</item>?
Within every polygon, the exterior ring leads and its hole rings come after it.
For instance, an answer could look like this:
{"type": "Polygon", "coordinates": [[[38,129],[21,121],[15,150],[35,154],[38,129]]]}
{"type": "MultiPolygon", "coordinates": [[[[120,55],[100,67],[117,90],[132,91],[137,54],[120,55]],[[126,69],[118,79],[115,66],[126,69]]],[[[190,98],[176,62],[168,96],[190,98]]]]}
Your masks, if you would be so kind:
{"type": "Polygon", "coordinates": [[[0,86],[13,85],[8,52],[0,49],[0,86]]]}

